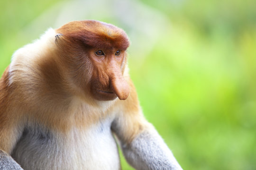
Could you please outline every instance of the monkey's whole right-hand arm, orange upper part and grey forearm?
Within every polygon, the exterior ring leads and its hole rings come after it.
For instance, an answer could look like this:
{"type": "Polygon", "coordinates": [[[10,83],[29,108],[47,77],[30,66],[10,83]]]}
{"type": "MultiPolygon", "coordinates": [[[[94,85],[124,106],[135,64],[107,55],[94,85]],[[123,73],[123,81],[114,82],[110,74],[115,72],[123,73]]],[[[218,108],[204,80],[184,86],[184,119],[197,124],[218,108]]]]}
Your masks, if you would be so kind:
{"type": "Polygon", "coordinates": [[[137,170],[182,170],[161,136],[143,117],[135,88],[130,83],[130,95],[120,101],[120,115],[112,124],[128,163],[137,170]]]}

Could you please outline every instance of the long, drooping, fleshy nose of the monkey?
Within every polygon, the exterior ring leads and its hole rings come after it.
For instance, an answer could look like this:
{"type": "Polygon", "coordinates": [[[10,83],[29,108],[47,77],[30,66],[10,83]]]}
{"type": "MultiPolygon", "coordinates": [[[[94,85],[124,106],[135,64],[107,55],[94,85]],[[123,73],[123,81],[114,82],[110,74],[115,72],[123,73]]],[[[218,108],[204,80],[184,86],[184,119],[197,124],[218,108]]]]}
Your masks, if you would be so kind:
{"type": "Polygon", "coordinates": [[[122,75],[121,69],[118,64],[112,63],[109,70],[110,88],[118,96],[120,100],[126,100],[128,98],[130,89],[128,82],[122,75]]]}

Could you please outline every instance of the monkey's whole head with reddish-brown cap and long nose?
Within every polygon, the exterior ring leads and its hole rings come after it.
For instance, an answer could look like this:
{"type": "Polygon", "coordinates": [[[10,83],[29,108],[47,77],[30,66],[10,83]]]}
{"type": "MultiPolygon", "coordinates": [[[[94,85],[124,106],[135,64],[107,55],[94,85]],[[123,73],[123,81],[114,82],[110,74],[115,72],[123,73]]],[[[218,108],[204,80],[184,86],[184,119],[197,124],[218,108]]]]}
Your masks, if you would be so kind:
{"type": "Polygon", "coordinates": [[[100,101],[127,99],[129,85],[123,74],[129,41],[122,29],[85,20],[70,22],[56,33],[58,57],[80,93],[100,101]]]}

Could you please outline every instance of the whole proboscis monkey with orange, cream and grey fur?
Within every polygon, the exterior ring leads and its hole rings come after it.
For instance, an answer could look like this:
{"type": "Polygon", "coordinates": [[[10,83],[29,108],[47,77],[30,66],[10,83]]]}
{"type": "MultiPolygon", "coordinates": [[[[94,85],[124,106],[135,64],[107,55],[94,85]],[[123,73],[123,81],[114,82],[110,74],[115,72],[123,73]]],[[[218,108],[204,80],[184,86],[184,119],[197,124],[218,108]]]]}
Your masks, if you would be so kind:
{"type": "Polygon", "coordinates": [[[141,112],[127,34],[94,20],[49,29],[0,79],[0,170],[182,170],[141,112]]]}

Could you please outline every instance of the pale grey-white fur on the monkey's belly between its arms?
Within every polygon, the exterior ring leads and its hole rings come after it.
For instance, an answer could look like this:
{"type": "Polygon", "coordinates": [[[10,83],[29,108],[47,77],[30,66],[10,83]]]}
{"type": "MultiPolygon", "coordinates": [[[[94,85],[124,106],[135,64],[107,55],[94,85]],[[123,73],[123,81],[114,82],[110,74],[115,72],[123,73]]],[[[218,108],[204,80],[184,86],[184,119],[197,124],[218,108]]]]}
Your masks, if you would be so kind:
{"type": "Polygon", "coordinates": [[[73,127],[68,134],[28,127],[12,156],[25,170],[119,170],[111,121],[84,130],[73,127]]]}

